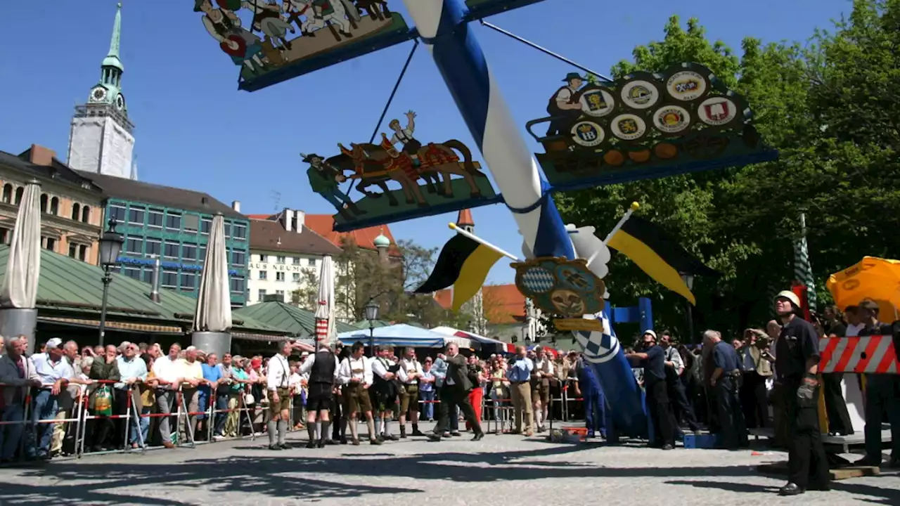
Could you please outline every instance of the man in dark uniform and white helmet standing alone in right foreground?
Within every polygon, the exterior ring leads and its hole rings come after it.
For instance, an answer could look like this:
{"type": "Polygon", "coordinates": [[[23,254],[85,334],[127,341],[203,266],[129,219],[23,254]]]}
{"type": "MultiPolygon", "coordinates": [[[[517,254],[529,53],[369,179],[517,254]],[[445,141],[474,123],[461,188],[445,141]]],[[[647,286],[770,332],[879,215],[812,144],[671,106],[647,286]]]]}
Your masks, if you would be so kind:
{"type": "Polygon", "coordinates": [[[819,336],[813,324],[798,317],[800,299],[788,290],[775,297],[781,319],[775,373],[784,393],[788,419],[788,484],[781,495],[829,490],[828,458],[819,425],[819,336]]]}

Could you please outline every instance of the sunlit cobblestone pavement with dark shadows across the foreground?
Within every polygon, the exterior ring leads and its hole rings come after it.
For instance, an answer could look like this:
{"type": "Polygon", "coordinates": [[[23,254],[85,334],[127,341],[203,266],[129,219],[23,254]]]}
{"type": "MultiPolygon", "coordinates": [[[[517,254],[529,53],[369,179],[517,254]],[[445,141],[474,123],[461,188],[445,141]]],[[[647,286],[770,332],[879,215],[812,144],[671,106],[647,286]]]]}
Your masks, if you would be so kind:
{"type": "MultiPolygon", "coordinates": [[[[396,428],[396,425],[394,425],[396,428]]],[[[292,441],[305,438],[291,433],[292,441]]],[[[900,476],[833,482],[780,498],[784,481],[754,465],[783,453],[554,444],[488,435],[481,442],[410,438],[381,447],[272,452],[265,438],[141,454],[85,456],[0,469],[0,505],[216,504],[900,504],[900,476]]]]}

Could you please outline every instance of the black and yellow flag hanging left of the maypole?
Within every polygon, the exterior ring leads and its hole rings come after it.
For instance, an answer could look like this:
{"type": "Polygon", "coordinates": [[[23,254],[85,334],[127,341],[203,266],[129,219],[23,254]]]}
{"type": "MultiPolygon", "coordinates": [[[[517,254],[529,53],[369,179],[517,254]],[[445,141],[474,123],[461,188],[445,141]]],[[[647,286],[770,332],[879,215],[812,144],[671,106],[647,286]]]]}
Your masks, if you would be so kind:
{"type": "Polygon", "coordinates": [[[435,270],[416,289],[416,294],[430,294],[452,285],[453,310],[459,311],[466,301],[478,294],[491,267],[502,256],[493,248],[456,234],[441,249],[435,270]]]}

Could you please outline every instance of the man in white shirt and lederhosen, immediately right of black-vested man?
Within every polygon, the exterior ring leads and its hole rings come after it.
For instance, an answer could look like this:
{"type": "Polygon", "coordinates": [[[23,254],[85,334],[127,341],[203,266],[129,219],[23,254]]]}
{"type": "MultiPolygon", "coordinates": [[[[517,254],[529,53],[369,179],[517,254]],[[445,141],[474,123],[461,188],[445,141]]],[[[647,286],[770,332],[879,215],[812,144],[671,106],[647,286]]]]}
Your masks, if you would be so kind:
{"type": "Polygon", "coordinates": [[[372,386],[372,364],[365,357],[365,345],[356,341],[350,348],[350,356],[340,363],[338,373],[340,383],[344,385],[344,400],[347,405],[347,423],[350,425],[351,443],[359,446],[359,432],[356,419],[359,413],[365,414],[365,423],[369,427],[369,442],[382,444],[375,435],[375,422],[372,418],[372,401],[369,399],[369,387],[372,386]]]}

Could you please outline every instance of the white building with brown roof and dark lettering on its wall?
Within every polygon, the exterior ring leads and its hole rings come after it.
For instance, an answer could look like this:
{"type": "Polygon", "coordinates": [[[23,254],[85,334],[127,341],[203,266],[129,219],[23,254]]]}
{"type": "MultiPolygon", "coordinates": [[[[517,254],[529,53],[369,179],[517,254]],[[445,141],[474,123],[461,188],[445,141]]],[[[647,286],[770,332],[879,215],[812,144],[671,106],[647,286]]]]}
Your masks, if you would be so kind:
{"type": "Polygon", "coordinates": [[[322,258],[337,257],[341,248],[309,227],[304,213],[285,209],[265,219],[250,220],[250,257],[247,266],[247,304],[273,300],[315,304],[322,258]],[[297,294],[306,300],[295,300],[297,294]]]}

